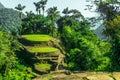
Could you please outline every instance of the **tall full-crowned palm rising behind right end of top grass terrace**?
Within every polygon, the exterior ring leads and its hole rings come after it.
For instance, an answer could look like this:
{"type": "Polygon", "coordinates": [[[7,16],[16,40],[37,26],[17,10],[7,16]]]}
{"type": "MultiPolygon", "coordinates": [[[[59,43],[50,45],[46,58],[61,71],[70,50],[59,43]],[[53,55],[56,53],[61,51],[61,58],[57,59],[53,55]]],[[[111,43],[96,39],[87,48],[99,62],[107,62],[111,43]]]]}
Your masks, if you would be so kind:
{"type": "Polygon", "coordinates": [[[51,18],[52,36],[54,37],[55,22],[59,19],[60,14],[59,11],[57,11],[57,7],[49,8],[47,14],[51,18]]]}

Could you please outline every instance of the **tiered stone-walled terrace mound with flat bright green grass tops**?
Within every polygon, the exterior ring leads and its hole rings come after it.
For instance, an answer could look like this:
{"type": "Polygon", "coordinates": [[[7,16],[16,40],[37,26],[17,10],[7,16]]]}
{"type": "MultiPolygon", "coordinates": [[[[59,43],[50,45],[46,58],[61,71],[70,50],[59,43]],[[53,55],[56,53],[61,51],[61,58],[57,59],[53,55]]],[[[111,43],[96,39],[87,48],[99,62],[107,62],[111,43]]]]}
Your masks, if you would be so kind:
{"type": "MultiPolygon", "coordinates": [[[[29,34],[22,35],[21,43],[24,48],[33,55],[33,68],[38,73],[49,73],[50,71],[59,70],[64,55],[57,46],[53,46],[53,38],[48,35],[29,34]],[[37,40],[38,39],[38,40],[37,40]],[[61,60],[62,59],[62,60],[61,60]]],[[[29,72],[32,72],[29,69],[29,72]]]]}

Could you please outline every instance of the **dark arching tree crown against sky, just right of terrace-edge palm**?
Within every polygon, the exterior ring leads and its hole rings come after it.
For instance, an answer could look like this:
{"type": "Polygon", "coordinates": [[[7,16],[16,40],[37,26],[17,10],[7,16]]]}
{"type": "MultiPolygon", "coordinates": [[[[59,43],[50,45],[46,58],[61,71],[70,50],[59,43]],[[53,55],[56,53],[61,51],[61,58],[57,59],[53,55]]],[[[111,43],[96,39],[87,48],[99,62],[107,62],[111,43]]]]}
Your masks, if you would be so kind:
{"type": "Polygon", "coordinates": [[[76,24],[76,21],[78,22],[81,20],[82,22],[85,22],[84,16],[76,9],[69,10],[68,7],[65,8],[62,13],[65,15],[62,16],[58,21],[58,31],[61,33],[64,26],[71,26],[76,24]]]}

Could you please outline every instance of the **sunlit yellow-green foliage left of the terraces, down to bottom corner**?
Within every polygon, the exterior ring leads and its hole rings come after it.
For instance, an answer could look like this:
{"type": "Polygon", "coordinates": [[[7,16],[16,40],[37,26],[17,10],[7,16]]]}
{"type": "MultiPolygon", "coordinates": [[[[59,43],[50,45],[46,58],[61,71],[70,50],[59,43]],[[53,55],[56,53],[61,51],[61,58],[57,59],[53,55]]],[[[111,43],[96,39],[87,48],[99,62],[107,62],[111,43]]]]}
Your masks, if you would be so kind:
{"type": "Polygon", "coordinates": [[[32,75],[17,57],[21,44],[9,33],[0,31],[0,46],[0,80],[30,80],[32,75]]]}

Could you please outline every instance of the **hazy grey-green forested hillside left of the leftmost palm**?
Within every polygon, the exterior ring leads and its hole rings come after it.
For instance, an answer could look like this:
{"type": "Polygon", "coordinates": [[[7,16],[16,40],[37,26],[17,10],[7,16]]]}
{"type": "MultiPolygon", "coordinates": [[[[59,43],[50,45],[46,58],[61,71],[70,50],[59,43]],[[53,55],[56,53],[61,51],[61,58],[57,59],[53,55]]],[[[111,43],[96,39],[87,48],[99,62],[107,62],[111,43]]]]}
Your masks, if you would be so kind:
{"type": "Polygon", "coordinates": [[[18,35],[20,23],[21,20],[19,18],[19,12],[14,9],[5,8],[4,5],[0,3],[1,29],[9,33],[18,35]]]}

